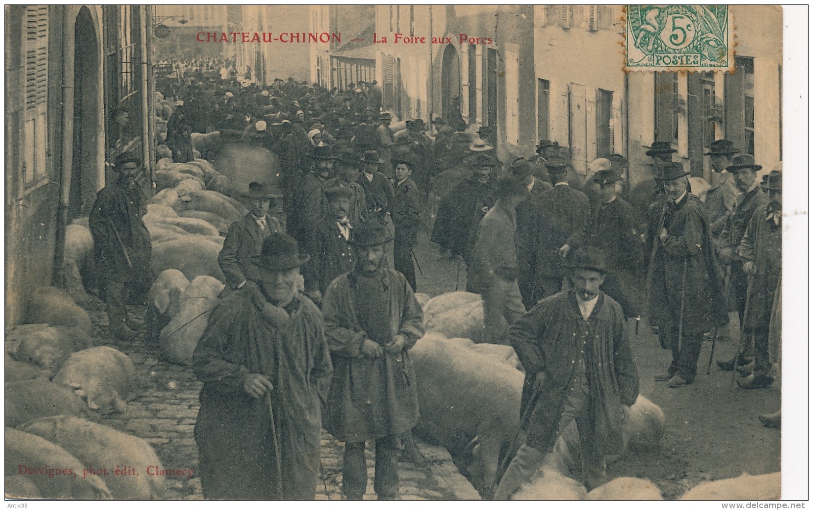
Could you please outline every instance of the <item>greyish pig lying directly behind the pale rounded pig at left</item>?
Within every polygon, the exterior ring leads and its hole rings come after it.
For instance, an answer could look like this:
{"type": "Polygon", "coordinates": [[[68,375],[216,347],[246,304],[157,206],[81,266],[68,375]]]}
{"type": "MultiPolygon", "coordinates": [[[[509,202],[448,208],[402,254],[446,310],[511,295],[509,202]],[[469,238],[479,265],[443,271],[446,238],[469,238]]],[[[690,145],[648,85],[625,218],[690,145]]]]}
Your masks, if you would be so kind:
{"type": "Polygon", "coordinates": [[[89,347],[93,347],[93,339],[85,331],[67,326],[51,326],[32,331],[22,338],[14,358],[56,373],[68,356],[89,347]]]}

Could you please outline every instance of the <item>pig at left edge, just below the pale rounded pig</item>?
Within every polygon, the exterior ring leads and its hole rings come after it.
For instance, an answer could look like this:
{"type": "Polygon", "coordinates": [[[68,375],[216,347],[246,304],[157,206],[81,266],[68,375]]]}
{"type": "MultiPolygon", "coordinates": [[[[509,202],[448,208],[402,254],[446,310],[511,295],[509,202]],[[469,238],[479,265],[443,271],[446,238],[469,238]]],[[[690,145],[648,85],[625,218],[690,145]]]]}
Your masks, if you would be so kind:
{"type": "Polygon", "coordinates": [[[89,410],[71,388],[47,379],[6,384],[7,427],[55,414],[87,418],[89,410]]]}

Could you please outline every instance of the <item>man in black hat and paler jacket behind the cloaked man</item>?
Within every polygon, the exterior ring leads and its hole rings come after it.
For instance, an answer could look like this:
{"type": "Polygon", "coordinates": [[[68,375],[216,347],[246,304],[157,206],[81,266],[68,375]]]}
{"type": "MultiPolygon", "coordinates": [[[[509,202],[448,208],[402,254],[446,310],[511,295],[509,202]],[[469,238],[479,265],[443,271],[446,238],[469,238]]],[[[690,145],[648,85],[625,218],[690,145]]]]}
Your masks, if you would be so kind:
{"type": "Polygon", "coordinates": [[[734,155],[739,152],[734,147],[734,142],[715,140],[711,142],[710,150],[704,154],[711,158],[711,186],[706,192],[706,211],[709,213],[711,235],[715,240],[719,240],[728,215],[734,210],[734,201],[740,194],[734,176],[728,171],[728,167],[733,164],[734,155]]]}

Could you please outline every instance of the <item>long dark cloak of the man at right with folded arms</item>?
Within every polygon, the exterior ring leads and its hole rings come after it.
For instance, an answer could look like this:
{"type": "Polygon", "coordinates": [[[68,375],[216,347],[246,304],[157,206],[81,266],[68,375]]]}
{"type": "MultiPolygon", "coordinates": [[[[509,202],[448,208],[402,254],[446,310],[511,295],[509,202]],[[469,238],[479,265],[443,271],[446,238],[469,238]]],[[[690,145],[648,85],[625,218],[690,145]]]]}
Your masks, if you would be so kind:
{"type": "MultiPolygon", "coordinates": [[[[650,322],[660,326],[680,323],[682,296],[683,332],[705,333],[728,320],[723,273],[706,210],[700,198],[690,193],[668,207],[663,222],[668,236],[663,242],[659,240],[654,259],[650,322]]],[[[650,224],[660,216],[656,207],[652,212],[650,224]]]]}

